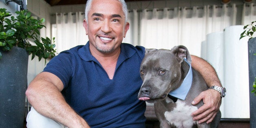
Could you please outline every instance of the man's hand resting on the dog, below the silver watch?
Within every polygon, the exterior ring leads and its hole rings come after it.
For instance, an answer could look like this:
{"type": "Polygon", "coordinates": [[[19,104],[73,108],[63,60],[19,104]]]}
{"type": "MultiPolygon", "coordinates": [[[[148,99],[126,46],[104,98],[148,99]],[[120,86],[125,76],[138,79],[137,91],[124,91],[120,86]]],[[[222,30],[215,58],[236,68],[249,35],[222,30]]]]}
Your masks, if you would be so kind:
{"type": "Polygon", "coordinates": [[[212,122],[219,111],[221,94],[213,89],[205,90],[193,100],[192,104],[198,104],[201,100],[203,100],[203,106],[194,111],[191,116],[193,116],[193,120],[198,120],[199,124],[205,121],[208,124],[212,122]]]}

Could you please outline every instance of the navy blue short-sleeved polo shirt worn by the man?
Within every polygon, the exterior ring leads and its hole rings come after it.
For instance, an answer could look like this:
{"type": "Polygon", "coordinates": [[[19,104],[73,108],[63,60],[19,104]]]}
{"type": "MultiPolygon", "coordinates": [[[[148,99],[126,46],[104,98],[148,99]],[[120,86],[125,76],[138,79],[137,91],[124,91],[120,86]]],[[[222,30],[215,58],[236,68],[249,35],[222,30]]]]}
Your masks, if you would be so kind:
{"type": "Polygon", "coordinates": [[[44,68],[59,77],[66,102],[95,128],[144,128],[146,103],[137,96],[145,54],[142,46],[121,44],[113,79],[89,50],[89,42],[63,51],[44,68]]]}

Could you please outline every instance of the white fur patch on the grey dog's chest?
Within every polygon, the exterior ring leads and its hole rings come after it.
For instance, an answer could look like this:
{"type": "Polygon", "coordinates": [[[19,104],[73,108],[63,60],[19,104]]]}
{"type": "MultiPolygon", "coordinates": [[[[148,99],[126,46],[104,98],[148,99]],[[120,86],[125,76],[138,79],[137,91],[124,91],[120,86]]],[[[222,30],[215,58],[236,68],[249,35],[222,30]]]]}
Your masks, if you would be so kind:
{"type": "Polygon", "coordinates": [[[188,106],[180,99],[176,102],[177,106],[172,111],[166,111],[164,116],[169,124],[174,124],[177,128],[191,128],[196,121],[193,121],[191,113],[197,110],[195,106],[188,106]]]}

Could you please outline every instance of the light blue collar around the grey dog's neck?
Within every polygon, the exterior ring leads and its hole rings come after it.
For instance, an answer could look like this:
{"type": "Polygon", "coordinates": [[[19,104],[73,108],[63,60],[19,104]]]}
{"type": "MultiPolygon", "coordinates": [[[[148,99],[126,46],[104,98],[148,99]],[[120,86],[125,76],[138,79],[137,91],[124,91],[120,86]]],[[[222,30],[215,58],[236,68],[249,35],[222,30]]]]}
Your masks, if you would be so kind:
{"type": "MultiPolygon", "coordinates": [[[[187,62],[186,59],[184,59],[184,60],[185,60],[185,62],[187,62]]],[[[177,88],[175,90],[170,91],[169,95],[171,95],[172,97],[177,97],[182,100],[184,100],[186,98],[188,91],[190,90],[190,87],[192,84],[192,78],[193,78],[191,64],[188,63],[188,65],[189,65],[189,71],[188,71],[188,74],[186,75],[185,79],[183,80],[181,86],[179,86],[179,88],[177,88]]]]}

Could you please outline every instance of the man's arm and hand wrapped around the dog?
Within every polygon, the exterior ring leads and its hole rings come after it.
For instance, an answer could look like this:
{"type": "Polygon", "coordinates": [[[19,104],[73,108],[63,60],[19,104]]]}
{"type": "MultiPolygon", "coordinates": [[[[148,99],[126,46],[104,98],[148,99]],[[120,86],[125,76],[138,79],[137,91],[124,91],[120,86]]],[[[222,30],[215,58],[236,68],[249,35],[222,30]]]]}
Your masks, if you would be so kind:
{"type": "MultiPolygon", "coordinates": [[[[208,62],[194,55],[191,57],[192,67],[196,71],[199,71],[209,88],[213,85],[221,86],[221,82],[218,79],[215,69],[208,62]]],[[[201,100],[203,100],[204,105],[192,113],[193,119],[198,120],[199,123],[205,121],[206,123],[210,123],[221,106],[221,94],[213,89],[205,90],[193,100],[192,104],[198,104],[201,100]]]]}

